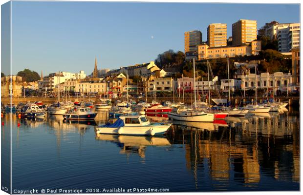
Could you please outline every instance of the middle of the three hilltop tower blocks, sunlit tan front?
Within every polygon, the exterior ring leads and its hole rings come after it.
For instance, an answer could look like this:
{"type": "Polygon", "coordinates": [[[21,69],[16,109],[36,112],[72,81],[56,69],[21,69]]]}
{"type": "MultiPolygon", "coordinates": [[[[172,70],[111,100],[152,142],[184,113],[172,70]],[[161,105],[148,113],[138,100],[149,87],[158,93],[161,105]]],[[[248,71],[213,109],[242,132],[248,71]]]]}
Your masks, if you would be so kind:
{"type": "Polygon", "coordinates": [[[207,44],[210,47],[227,45],[227,24],[210,24],[207,28],[207,44]]]}

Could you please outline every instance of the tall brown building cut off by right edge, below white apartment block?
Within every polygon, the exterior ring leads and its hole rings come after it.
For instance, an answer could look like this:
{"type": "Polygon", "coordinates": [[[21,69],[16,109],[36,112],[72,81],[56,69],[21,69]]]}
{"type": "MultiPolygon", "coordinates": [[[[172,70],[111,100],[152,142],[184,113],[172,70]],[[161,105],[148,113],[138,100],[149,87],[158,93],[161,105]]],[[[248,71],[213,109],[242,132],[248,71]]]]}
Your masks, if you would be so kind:
{"type": "Polygon", "coordinates": [[[291,72],[293,85],[300,85],[300,49],[291,51],[291,72]]]}

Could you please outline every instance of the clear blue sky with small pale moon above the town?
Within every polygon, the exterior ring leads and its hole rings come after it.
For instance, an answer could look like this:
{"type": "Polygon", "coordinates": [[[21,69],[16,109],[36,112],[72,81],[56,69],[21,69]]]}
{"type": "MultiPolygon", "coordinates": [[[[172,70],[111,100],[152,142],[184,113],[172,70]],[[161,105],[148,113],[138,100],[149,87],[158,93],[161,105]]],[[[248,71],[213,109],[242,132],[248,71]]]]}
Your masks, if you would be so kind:
{"type": "MultiPolygon", "coordinates": [[[[116,69],[149,62],[169,49],[184,51],[184,32],[210,23],[257,20],[300,22],[298,4],[127,2],[12,2],[12,73],[24,68],[43,75],[116,69]],[[152,39],[153,38],[153,39],[152,39]]],[[[3,29],[2,29],[3,30],[3,29]]]]}

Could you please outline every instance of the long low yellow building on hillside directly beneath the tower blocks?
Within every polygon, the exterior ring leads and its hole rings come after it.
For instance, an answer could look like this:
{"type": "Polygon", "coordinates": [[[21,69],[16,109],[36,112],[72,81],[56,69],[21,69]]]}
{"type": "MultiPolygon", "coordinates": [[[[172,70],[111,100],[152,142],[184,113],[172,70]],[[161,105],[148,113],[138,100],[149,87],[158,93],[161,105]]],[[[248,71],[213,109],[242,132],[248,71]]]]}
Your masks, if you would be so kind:
{"type": "Polygon", "coordinates": [[[210,47],[203,44],[198,45],[198,60],[259,55],[260,50],[260,40],[253,40],[250,45],[242,46],[210,47]]]}

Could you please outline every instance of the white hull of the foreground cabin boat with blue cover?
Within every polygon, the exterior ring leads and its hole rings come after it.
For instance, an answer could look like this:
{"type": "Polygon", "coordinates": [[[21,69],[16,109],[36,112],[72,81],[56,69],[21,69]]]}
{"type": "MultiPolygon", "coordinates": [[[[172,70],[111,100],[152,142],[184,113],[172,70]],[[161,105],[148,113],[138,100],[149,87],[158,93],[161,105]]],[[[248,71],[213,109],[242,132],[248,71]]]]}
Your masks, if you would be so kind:
{"type": "Polygon", "coordinates": [[[163,135],[171,127],[172,124],[165,125],[146,125],[146,126],[130,126],[130,127],[98,127],[97,134],[117,134],[117,135],[136,135],[136,136],[154,136],[163,135]]]}

